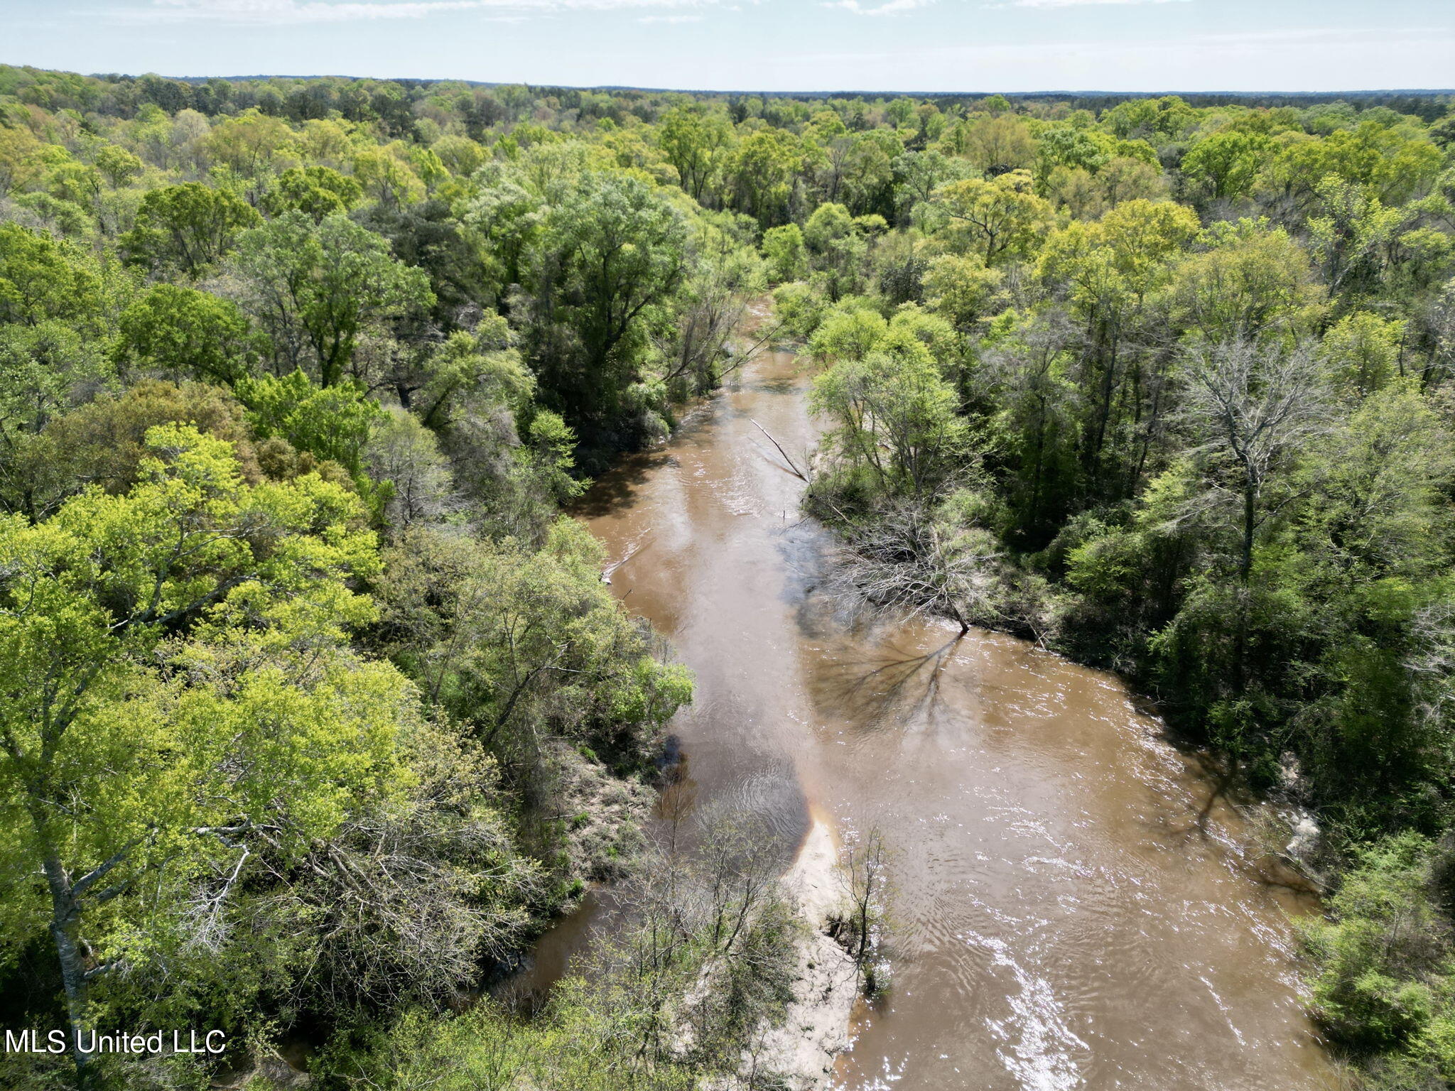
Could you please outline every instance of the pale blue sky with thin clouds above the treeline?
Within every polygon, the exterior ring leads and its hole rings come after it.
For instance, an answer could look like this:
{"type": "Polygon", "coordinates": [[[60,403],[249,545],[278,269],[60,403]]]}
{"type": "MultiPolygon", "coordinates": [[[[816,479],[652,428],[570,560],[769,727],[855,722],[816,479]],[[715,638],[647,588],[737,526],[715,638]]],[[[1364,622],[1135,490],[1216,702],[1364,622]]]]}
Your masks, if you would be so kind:
{"type": "Polygon", "coordinates": [[[1455,0],[0,0],[0,61],[723,90],[1455,86],[1455,0]]]}

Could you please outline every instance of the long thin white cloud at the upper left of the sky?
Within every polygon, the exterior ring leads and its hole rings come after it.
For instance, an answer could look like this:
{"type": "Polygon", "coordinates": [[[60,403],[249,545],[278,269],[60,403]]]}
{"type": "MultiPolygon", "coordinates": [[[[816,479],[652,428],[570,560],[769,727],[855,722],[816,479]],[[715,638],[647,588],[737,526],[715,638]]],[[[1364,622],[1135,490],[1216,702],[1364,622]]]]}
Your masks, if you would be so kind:
{"type": "Polygon", "coordinates": [[[218,22],[234,25],[343,23],[423,19],[444,12],[617,10],[694,7],[713,0],[153,0],[150,7],[118,12],[127,22],[218,22]]]}

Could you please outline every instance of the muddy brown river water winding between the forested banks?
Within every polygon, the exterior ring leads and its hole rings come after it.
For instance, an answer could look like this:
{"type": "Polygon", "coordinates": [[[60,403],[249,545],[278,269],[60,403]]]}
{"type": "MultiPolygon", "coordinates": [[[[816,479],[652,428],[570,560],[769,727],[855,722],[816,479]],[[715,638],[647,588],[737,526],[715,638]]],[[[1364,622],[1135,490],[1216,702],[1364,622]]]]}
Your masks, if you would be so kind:
{"type": "MultiPolygon", "coordinates": [[[[937,621],[842,621],[797,511],[809,375],[760,352],[666,445],[585,497],[614,591],[675,644],[688,790],[790,844],[812,807],[895,850],[893,986],[861,1012],[853,1091],[1333,1088],[1291,918],[1193,755],[1115,678],[937,621]],[[757,423],[754,423],[757,422],[757,423]]],[[[589,941],[592,902],[537,976],[589,941]]]]}

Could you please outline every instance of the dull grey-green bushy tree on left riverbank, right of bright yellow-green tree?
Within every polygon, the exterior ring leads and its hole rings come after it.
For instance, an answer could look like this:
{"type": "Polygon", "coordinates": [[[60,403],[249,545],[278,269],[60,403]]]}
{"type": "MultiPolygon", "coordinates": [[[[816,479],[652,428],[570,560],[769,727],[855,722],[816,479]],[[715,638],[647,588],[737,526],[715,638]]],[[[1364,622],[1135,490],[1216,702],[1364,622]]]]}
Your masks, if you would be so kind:
{"type": "Polygon", "coordinates": [[[575,519],[543,548],[416,529],[387,554],[386,647],[429,701],[512,759],[550,736],[631,751],[688,700],[601,582],[599,544],[575,519]]]}

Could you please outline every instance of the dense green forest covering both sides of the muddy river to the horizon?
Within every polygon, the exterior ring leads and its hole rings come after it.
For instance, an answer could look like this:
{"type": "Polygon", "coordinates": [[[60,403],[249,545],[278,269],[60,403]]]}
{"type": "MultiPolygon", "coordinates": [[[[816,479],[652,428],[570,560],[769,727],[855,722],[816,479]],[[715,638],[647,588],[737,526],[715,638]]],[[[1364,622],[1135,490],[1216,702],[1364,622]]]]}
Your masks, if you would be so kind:
{"type": "Polygon", "coordinates": [[[1455,1079],[1452,141],[1430,96],[0,68],[3,1021],[307,1042],[320,1087],[730,1071],[784,1004],[757,880],[728,947],[643,911],[535,1018],[469,1001],[687,867],[640,819],[690,679],[559,513],[773,288],[838,589],[1115,668],[1315,815],[1320,1017],[1455,1079]],[[694,1004],[725,1036],[665,1046],[694,1004]]]}

